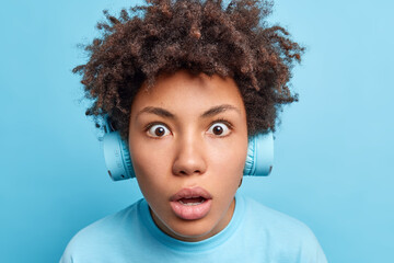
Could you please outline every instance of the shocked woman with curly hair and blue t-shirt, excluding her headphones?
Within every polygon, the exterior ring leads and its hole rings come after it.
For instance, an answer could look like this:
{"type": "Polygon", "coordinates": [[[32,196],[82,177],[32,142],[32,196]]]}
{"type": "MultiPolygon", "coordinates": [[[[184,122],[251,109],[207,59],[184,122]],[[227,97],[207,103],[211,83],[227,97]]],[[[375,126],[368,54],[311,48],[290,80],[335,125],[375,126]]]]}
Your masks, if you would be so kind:
{"type": "Polygon", "coordinates": [[[260,1],[151,1],[105,12],[74,69],[88,115],[128,146],[142,199],[81,230],[61,262],[326,262],[302,222],[236,194],[248,139],[297,100],[303,48],[260,1]]]}

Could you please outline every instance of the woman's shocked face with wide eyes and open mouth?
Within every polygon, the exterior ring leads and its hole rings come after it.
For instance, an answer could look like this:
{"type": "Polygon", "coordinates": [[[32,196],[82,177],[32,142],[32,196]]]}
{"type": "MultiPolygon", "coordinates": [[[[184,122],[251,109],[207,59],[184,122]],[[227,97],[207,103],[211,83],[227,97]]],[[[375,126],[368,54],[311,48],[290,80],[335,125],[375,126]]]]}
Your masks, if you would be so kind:
{"type": "Polygon", "coordinates": [[[230,221],[247,152],[246,113],[231,78],[160,76],[131,106],[129,148],[152,218],[200,241],[230,221]]]}

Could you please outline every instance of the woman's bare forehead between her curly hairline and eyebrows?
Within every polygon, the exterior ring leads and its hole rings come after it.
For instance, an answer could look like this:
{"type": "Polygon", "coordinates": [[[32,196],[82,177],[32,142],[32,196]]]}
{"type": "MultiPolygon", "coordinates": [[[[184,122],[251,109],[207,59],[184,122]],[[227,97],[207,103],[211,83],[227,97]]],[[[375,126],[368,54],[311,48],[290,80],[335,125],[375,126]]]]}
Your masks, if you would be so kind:
{"type": "Polygon", "coordinates": [[[172,75],[161,75],[153,87],[143,84],[131,106],[131,115],[147,106],[160,106],[172,112],[198,112],[207,107],[230,104],[244,111],[244,104],[232,78],[192,75],[181,70],[172,75]]]}

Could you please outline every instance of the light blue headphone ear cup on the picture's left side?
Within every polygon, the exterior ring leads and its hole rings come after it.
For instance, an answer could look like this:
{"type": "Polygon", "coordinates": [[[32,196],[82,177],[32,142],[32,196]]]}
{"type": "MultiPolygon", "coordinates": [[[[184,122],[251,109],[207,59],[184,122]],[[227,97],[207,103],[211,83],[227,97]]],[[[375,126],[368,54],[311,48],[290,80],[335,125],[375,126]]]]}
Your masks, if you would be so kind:
{"type": "Polygon", "coordinates": [[[135,178],[128,145],[118,132],[111,132],[103,138],[104,159],[112,180],[135,178]]]}

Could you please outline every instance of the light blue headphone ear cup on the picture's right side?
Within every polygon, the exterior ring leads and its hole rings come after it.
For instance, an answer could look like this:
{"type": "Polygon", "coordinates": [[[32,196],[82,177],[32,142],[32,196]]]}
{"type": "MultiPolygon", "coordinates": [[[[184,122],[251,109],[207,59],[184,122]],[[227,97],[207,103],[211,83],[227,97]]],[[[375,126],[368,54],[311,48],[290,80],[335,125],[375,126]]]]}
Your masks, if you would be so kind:
{"type": "Polygon", "coordinates": [[[267,176],[274,164],[273,133],[258,134],[250,138],[244,175],[267,176]]]}

